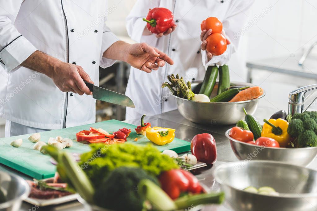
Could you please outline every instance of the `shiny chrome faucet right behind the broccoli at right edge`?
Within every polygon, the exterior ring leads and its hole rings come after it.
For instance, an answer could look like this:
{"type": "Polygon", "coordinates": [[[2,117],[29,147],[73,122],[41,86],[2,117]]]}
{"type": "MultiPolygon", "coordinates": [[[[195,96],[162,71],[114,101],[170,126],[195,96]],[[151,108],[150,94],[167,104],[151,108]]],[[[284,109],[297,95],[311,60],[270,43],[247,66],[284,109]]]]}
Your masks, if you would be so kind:
{"type": "Polygon", "coordinates": [[[300,87],[288,94],[288,113],[302,113],[317,99],[317,84],[300,87]]]}

